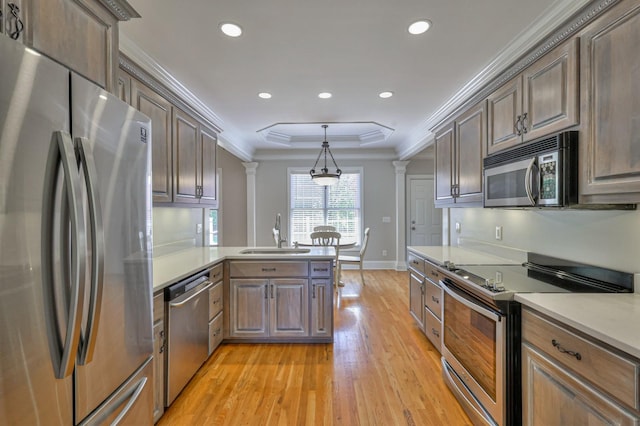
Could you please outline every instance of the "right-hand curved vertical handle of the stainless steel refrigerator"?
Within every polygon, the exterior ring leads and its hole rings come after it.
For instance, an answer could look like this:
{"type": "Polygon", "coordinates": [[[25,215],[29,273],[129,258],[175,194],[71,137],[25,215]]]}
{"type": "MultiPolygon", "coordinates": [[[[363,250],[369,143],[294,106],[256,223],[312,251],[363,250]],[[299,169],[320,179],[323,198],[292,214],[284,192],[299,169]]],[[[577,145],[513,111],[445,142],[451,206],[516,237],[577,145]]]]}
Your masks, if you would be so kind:
{"type": "Polygon", "coordinates": [[[104,286],[104,227],[100,195],[98,194],[98,174],[91,145],[88,139],[75,138],[75,147],[84,173],[91,232],[91,293],[89,296],[86,335],[83,336],[81,342],[78,360],[80,365],[85,365],[93,359],[98,324],[100,322],[100,307],[102,306],[102,290],[104,286]]]}

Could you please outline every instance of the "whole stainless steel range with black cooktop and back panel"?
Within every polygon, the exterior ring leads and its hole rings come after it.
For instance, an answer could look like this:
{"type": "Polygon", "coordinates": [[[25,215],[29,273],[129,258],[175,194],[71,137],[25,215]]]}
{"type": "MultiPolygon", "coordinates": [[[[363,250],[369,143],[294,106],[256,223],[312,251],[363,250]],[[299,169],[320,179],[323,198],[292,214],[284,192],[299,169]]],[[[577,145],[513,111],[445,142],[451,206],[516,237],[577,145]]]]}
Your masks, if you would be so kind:
{"type": "Polygon", "coordinates": [[[522,423],[517,293],[633,292],[633,274],[536,253],[510,265],[446,264],[442,374],[476,425],[522,423]]]}

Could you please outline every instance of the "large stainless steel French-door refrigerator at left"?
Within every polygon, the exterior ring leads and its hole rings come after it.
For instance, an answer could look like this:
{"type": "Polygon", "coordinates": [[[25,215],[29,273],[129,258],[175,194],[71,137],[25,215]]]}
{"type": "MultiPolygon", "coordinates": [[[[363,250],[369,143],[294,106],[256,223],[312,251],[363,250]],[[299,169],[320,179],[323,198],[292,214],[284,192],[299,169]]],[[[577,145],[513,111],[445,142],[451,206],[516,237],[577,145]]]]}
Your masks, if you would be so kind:
{"type": "Polygon", "coordinates": [[[0,35],[0,424],[152,424],[150,120],[0,35]]]}

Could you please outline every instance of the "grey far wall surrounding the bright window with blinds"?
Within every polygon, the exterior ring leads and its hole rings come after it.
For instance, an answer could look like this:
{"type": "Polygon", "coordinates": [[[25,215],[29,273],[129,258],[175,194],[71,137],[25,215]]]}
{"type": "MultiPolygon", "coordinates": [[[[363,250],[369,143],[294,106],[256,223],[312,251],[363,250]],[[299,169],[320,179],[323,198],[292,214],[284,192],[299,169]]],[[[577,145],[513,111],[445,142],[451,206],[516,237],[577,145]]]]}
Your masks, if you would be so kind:
{"type": "MultiPolygon", "coordinates": [[[[336,158],[341,168],[363,168],[364,227],[371,228],[365,256],[370,268],[393,268],[395,265],[395,168],[390,160],[347,160],[336,158]],[[383,223],[388,216],[390,223],[383,223]],[[387,256],[382,256],[387,250],[387,256]],[[388,263],[387,263],[388,262],[388,263]]],[[[271,229],[277,213],[282,215],[282,229],[289,227],[287,207],[287,168],[310,168],[309,160],[260,161],[256,173],[256,245],[274,245],[271,229]]],[[[289,243],[291,243],[289,241],[289,243]]]]}

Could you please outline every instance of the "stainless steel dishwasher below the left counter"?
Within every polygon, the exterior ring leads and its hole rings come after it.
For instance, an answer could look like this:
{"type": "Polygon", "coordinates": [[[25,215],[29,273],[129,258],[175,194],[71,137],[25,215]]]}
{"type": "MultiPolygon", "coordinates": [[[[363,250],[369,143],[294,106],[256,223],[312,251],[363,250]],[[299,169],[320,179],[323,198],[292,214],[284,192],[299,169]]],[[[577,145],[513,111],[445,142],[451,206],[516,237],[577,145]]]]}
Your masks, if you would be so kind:
{"type": "Polygon", "coordinates": [[[167,392],[169,406],[209,355],[209,271],[165,290],[168,305],[167,392]]]}

